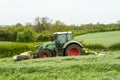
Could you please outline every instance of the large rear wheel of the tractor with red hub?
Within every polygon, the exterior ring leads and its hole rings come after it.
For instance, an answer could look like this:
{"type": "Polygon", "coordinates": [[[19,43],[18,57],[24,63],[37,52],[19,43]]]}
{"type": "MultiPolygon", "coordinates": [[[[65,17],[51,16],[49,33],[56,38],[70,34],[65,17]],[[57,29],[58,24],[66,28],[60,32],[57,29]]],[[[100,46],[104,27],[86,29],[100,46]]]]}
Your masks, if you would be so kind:
{"type": "Polygon", "coordinates": [[[82,54],[82,48],[77,44],[71,44],[65,49],[65,56],[79,56],[82,54]]]}

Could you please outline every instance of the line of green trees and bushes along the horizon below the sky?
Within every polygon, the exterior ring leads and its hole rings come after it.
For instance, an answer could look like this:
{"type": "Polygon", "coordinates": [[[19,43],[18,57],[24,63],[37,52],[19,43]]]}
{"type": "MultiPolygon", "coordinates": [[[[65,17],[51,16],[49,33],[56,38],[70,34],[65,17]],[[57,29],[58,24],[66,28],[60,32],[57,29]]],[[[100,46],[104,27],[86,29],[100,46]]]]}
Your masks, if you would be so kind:
{"type": "Polygon", "coordinates": [[[17,23],[16,25],[0,26],[0,41],[40,42],[49,41],[50,36],[57,31],[72,31],[73,36],[76,36],[118,30],[120,30],[120,21],[111,24],[67,25],[59,20],[52,23],[52,20],[48,17],[36,17],[33,24],[27,23],[23,25],[17,23]]]}

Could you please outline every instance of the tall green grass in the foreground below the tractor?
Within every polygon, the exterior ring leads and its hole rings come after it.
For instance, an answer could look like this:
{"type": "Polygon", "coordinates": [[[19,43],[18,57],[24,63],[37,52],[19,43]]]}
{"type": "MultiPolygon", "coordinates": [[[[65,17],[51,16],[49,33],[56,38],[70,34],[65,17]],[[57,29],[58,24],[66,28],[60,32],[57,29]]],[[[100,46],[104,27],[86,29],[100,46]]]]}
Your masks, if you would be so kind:
{"type": "Polygon", "coordinates": [[[0,80],[120,80],[120,51],[14,62],[0,59],[0,80]]]}

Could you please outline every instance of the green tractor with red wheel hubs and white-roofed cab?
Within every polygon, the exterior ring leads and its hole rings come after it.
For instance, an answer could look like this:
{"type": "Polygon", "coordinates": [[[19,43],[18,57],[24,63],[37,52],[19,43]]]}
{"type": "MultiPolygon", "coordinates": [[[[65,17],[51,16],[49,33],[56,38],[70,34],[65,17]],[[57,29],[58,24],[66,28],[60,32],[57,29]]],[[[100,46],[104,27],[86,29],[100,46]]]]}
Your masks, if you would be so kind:
{"type": "Polygon", "coordinates": [[[51,42],[36,46],[37,58],[54,56],[79,56],[82,54],[82,45],[72,40],[72,32],[56,32],[51,42]]]}

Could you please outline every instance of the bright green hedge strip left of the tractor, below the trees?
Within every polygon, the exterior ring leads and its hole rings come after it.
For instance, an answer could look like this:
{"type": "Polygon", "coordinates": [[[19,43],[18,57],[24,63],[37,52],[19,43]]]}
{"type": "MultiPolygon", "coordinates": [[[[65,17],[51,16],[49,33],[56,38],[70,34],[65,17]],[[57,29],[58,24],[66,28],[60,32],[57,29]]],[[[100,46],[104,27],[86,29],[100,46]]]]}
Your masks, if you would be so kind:
{"type": "Polygon", "coordinates": [[[40,43],[9,43],[0,45],[0,58],[11,57],[25,51],[35,51],[35,45],[40,43]]]}

